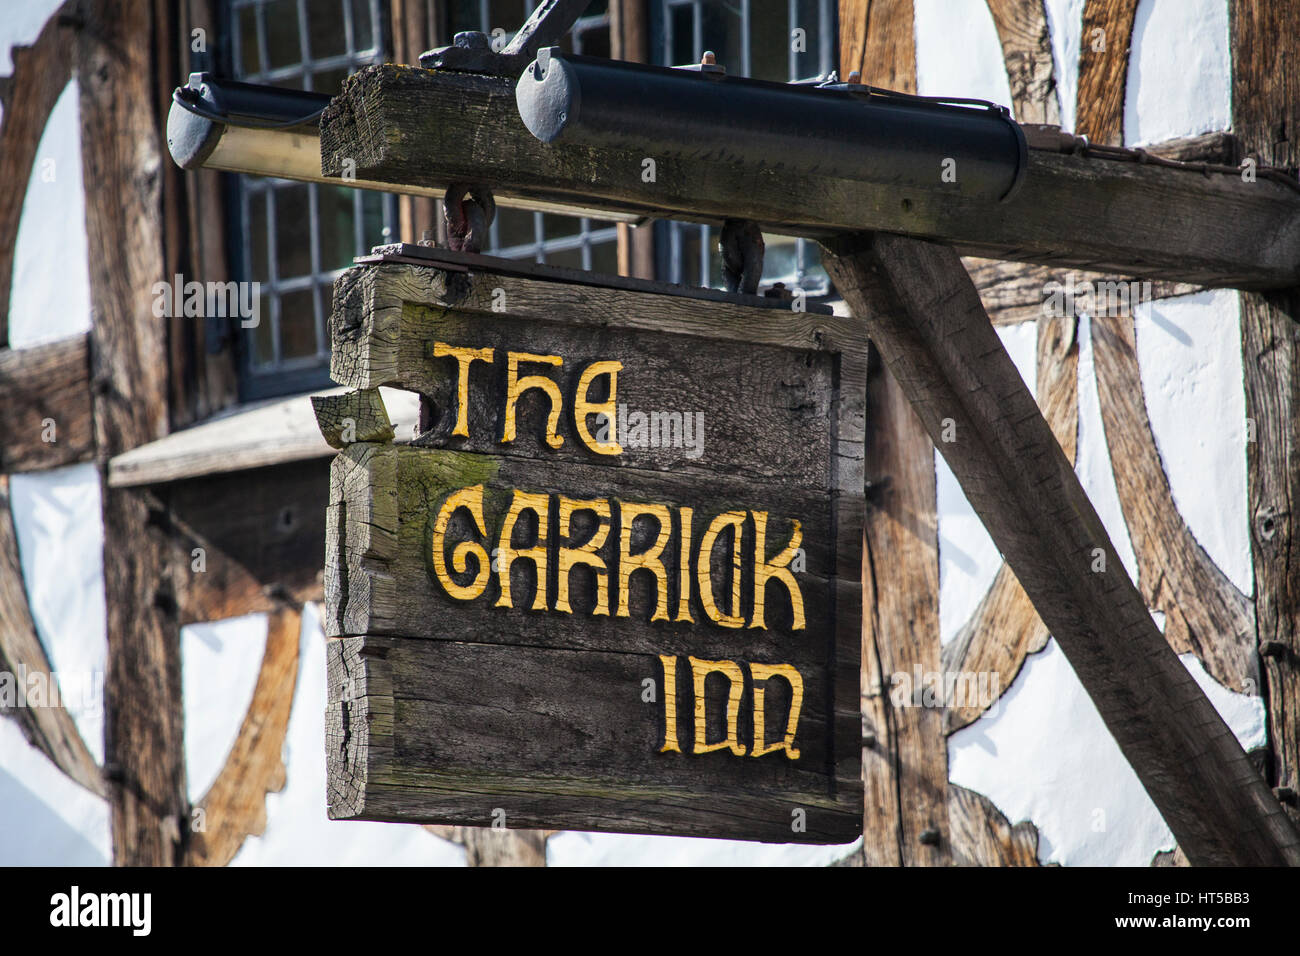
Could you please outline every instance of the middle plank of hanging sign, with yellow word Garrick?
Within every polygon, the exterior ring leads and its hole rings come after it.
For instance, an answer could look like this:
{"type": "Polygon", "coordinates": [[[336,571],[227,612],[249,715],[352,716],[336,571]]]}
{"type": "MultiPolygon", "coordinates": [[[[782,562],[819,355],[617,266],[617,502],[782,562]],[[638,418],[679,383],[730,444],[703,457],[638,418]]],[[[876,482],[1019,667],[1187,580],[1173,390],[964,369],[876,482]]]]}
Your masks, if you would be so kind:
{"type": "MultiPolygon", "coordinates": [[[[840,555],[835,550],[833,498],[824,492],[796,492],[754,486],[749,481],[727,480],[715,476],[707,485],[694,479],[659,472],[615,472],[607,467],[555,463],[542,459],[490,458],[486,455],[441,449],[413,449],[385,445],[356,444],[334,459],[330,483],[330,512],[335,516],[338,537],[329,538],[328,567],[338,562],[339,578],[326,574],[326,602],[339,619],[326,622],[326,633],[335,635],[425,635],[438,640],[474,640],[478,643],[537,644],[575,649],[601,649],[616,640],[625,650],[641,653],[694,653],[697,657],[727,657],[734,646],[734,632],[728,630],[703,631],[701,628],[673,628],[650,620],[656,606],[658,588],[651,574],[634,575],[620,587],[619,554],[620,535],[624,528],[623,505],[659,503],[670,512],[686,506],[693,510],[692,537],[684,542],[680,515],[670,514],[670,537],[663,548],[667,568],[667,611],[673,619],[681,617],[680,555],[688,553],[689,614],[697,622],[707,620],[701,605],[702,584],[697,583],[698,557],[702,535],[708,523],[727,511],[766,511],[767,551],[775,554],[792,540],[793,522],[801,524],[802,549],[806,571],[797,575],[802,588],[806,631],[810,635],[829,632],[829,614],[835,593],[833,576],[840,555]],[[611,473],[612,472],[612,473],[611,473]],[[619,475],[615,479],[615,475],[619,475]],[[614,483],[618,481],[618,485],[614,483]],[[510,605],[499,607],[504,591],[504,575],[489,574],[481,594],[473,600],[452,597],[430,574],[429,535],[432,516],[454,492],[482,485],[482,512],[486,532],[471,523],[460,511],[446,525],[443,550],[448,568],[454,568],[451,554],[463,541],[477,541],[485,553],[507,546],[503,523],[510,512],[515,489],[546,496],[549,520],[546,533],[547,578],[537,580],[534,562],[515,561],[510,566],[510,605]],[[592,574],[577,568],[572,575],[571,613],[556,611],[559,588],[556,576],[556,548],[562,544],[577,546],[595,533],[595,515],[592,511],[575,512],[572,532],[559,535],[555,522],[559,503],[551,496],[576,501],[601,499],[608,505],[610,515],[601,524],[607,528],[603,544],[595,550],[608,568],[608,598],[606,614],[593,615],[597,597],[592,574]],[[335,551],[337,549],[337,551],[335,551]],[[538,589],[542,597],[538,597],[538,589]],[[623,606],[627,592],[627,620],[614,622],[610,615],[623,606]],[[525,614],[524,609],[551,613],[525,614]],[[443,622],[429,632],[429,622],[443,622]],[[581,622],[582,627],[575,627],[581,622]],[[616,628],[616,637],[611,628],[616,628]],[[656,650],[658,649],[658,650],[656,650]]],[[[516,548],[532,546],[538,528],[537,515],[525,511],[511,540],[516,548]],[[524,544],[520,544],[524,542],[524,544]]],[[[658,519],[637,518],[630,525],[630,553],[650,549],[660,532],[658,519]]],[[[729,533],[729,532],[728,532],[729,533]]],[[[729,538],[728,538],[729,540],[729,538]]],[[[745,562],[754,554],[753,520],[746,518],[741,533],[741,554],[745,562]]],[[[753,619],[754,588],[751,567],[745,566],[740,588],[740,606],[731,605],[731,563],[720,563],[729,549],[714,549],[712,591],[719,607],[725,606],[733,617],[746,622],[753,619]]],[[[437,559],[438,555],[434,555],[437,559]]],[[[498,559],[499,561],[499,559],[498,559]]],[[[468,587],[482,575],[477,559],[450,579],[468,587]]],[[[494,562],[495,563],[495,562],[494,562]]],[[[845,597],[857,598],[854,583],[841,583],[848,588],[845,597]]],[[[796,654],[794,663],[807,663],[824,653],[824,648],[798,641],[789,646],[793,609],[786,589],[770,585],[767,589],[766,618],[768,628],[746,630],[745,645],[755,653],[796,654]]]]}

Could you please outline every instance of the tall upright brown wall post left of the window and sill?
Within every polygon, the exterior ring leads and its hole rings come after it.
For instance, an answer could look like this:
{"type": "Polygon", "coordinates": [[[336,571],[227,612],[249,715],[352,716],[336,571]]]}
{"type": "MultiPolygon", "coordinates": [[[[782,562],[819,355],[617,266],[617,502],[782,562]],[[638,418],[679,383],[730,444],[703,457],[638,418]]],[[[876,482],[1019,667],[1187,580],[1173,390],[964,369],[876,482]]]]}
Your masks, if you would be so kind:
{"type": "MultiPolygon", "coordinates": [[[[150,0],[87,0],[79,12],[74,64],[86,237],[95,250],[94,418],[96,458],[105,466],[168,428],[166,336],[150,289],[166,276],[152,43],[169,40],[157,36],[150,0]]],[[[190,832],[165,523],[142,493],[104,488],[104,771],[117,865],[174,865],[190,832]]]]}

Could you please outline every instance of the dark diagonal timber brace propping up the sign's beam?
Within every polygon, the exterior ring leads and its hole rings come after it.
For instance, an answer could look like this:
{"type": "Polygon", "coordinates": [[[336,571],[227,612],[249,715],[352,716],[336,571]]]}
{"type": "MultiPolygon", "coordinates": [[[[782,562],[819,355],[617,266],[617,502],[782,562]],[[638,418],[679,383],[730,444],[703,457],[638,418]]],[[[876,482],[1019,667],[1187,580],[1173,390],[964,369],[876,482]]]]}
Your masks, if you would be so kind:
{"type": "Polygon", "coordinates": [[[859,234],[826,268],[1179,847],[1300,865],[1300,835],[1157,630],[950,247],[859,234]]]}

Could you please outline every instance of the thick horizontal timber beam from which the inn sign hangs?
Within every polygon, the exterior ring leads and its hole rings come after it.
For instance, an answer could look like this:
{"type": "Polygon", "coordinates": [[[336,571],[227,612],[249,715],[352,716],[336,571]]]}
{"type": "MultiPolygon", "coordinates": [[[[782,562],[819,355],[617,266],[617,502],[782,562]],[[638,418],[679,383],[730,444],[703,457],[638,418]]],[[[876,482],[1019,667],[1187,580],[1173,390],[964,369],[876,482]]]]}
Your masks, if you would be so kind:
{"type": "MultiPolygon", "coordinates": [[[[798,173],[780,157],[757,166],[546,146],[519,118],[512,81],[391,64],[348,78],[320,131],[326,177],[395,190],[476,182],[611,215],[751,219],[812,238],[871,229],[962,255],[1206,286],[1300,284],[1300,190],[1264,176],[1030,150],[1022,187],[997,203],[798,173]]],[[[936,181],[939,172],[936,160],[936,181]]]]}

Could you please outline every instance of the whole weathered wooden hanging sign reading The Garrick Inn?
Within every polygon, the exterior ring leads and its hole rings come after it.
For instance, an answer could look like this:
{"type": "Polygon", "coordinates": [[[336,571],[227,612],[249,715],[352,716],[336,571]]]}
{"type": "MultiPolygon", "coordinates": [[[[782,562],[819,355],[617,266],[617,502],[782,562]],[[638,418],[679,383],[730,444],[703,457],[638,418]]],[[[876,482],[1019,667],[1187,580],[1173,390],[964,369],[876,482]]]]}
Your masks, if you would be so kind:
{"type": "Polygon", "coordinates": [[[855,839],[861,333],[473,259],[335,284],[330,817],[855,839]]]}

